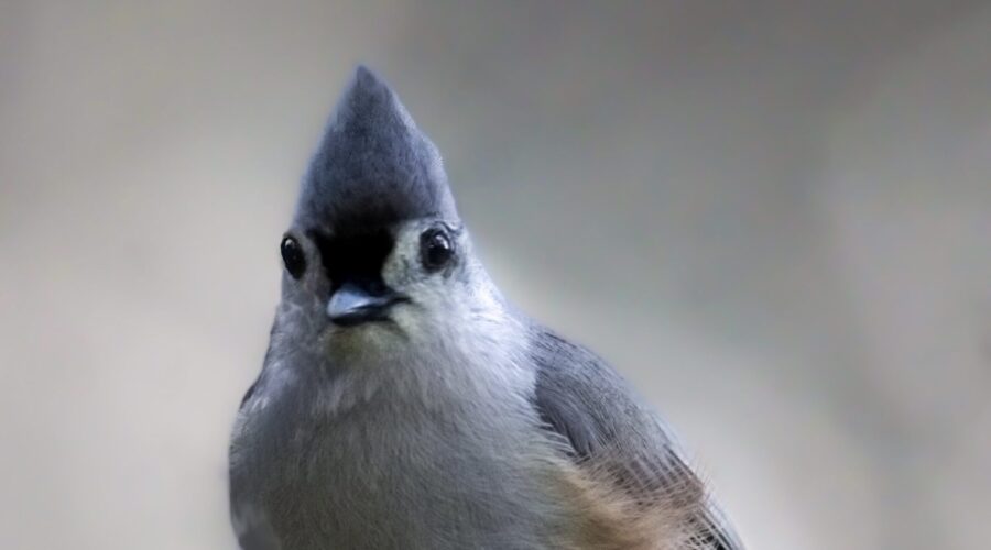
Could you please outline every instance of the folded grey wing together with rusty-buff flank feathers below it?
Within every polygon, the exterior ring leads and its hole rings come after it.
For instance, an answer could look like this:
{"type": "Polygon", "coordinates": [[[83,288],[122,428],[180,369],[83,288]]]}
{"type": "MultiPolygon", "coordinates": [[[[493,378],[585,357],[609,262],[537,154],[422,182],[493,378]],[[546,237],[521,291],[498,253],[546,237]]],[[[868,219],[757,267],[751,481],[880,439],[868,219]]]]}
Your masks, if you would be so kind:
{"type": "Polygon", "coordinates": [[[597,536],[590,549],[740,550],[668,428],[605,361],[533,326],[534,406],[565,443],[597,536]]]}

